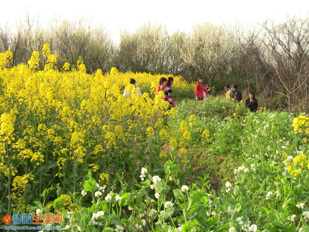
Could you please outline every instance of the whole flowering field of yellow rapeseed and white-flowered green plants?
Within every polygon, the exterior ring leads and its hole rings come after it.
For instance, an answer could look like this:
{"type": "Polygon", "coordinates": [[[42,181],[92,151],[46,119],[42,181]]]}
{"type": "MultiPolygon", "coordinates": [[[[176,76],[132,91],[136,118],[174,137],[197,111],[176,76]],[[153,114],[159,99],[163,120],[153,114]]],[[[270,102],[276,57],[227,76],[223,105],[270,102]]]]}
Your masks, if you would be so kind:
{"type": "Polygon", "coordinates": [[[162,75],[87,74],[82,61],[58,71],[47,45],[28,65],[10,57],[0,55],[1,218],[57,213],[74,232],[309,231],[306,115],[184,98],[194,84],[180,76],[167,110],[154,95],[162,75]],[[121,95],[129,78],[143,97],[121,95]]]}

